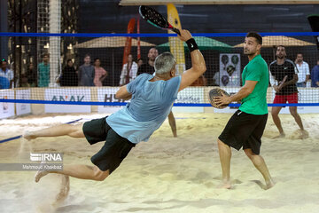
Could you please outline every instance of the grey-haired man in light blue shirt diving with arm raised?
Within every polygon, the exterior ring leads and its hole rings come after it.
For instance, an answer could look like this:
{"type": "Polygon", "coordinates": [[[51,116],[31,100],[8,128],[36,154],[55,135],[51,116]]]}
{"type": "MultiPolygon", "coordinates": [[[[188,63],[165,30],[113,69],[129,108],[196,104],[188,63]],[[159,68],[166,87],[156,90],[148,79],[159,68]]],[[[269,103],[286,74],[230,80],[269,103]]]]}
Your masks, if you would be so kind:
{"type": "Polygon", "coordinates": [[[60,126],[26,132],[24,138],[68,135],[87,138],[90,145],[105,141],[105,145],[91,157],[94,166],[64,165],[63,170],[38,171],[35,182],[48,173],[58,173],[82,179],[104,180],[128,155],[132,147],[147,141],[159,129],[170,113],[178,91],[182,91],[206,71],[205,60],[188,30],[178,36],[191,51],[192,67],[183,75],[175,76],[175,59],[164,52],[155,59],[155,76],[142,74],[116,92],[117,99],[131,99],[127,106],[106,118],[82,125],[60,126]]]}

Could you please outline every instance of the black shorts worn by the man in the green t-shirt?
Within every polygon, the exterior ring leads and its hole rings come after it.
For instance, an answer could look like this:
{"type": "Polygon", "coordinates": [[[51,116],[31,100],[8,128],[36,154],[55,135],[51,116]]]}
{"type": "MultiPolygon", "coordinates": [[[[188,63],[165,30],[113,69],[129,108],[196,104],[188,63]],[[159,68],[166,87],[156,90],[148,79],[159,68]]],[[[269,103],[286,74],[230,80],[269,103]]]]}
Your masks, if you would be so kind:
{"type": "Polygon", "coordinates": [[[237,150],[243,146],[243,149],[250,148],[254,154],[260,154],[267,118],[268,114],[246,114],[237,110],[218,138],[237,150]]]}

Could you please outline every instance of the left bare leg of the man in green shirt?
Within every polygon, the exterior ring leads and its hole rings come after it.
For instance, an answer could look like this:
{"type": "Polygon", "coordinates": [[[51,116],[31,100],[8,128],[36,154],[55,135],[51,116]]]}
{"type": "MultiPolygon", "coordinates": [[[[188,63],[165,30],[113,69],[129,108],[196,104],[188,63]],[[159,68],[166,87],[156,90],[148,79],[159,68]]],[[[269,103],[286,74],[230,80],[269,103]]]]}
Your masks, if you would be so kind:
{"type": "Polygon", "coordinates": [[[222,165],[222,188],[230,189],[230,146],[224,144],[220,139],[217,139],[217,143],[222,165]]]}

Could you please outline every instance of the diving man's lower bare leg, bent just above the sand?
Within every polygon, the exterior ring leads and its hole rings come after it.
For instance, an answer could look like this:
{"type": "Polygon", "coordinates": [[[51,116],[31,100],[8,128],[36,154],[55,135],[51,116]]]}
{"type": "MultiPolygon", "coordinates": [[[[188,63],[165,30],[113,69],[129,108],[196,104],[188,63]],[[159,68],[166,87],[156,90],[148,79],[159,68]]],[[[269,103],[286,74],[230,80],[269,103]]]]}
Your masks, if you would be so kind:
{"type": "Polygon", "coordinates": [[[87,166],[87,165],[65,165],[63,170],[48,171],[40,170],[35,175],[35,182],[38,182],[41,177],[46,176],[49,173],[62,174],[66,176],[76,177],[80,179],[91,179],[102,181],[109,176],[109,170],[102,171],[99,170],[97,166],[87,166]]]}

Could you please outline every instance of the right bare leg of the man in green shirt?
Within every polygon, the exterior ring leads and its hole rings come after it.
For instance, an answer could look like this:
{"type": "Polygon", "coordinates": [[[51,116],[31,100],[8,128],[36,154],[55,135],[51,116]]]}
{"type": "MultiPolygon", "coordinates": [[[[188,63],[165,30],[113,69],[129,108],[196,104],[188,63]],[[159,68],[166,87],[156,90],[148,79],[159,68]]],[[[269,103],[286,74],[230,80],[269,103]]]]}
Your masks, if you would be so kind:
{"type": "Polygon", "coordinates": [[[253,162],[253,165],[257,170],[261,172],[262,177],[264,177],[266,182],[266,189],[271,188],[275,185],[274,181],[270,177],[269,170],[267,168],[266,162],[259,154],[254,154],[252,149],[245,149],[245,154],[253,162]]]}

